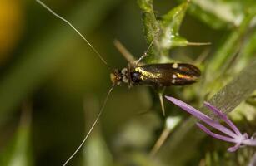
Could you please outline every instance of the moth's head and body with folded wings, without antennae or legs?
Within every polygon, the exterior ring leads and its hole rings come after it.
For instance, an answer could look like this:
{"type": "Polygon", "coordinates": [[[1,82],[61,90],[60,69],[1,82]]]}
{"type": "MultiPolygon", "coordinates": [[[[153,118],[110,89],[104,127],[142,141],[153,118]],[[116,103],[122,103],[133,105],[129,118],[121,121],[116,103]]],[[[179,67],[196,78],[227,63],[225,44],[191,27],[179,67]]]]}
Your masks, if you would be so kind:
{"type": "Polygon", "coordinates": [[[115,69],[110,78],[114,85],[151,85],[164,87],[170,85],[189,85],[198,80],[201,72],[196,66],[187,63],[163,63],[131,66],[115,69]]]}

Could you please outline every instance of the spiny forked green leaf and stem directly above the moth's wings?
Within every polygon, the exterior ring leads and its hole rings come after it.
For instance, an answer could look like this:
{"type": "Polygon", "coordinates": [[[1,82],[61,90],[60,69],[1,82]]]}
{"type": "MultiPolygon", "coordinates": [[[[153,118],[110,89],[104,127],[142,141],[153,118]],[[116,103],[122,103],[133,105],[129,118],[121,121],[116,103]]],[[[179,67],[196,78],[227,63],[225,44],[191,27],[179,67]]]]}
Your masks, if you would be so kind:
{"type": "Polygon", "coordinates": [[[188,46],[188,41],[180,37],[178,33],[188,8],[188,2],[174,7],[160,21],[155,17],[152,0],[138,0],[138,5],[143,12],[144,34],[148,45],[154,40],[149,51],[148,62],[163,62],[162,57],[168,56],[168,51],[173,46],[188,46]]]}

